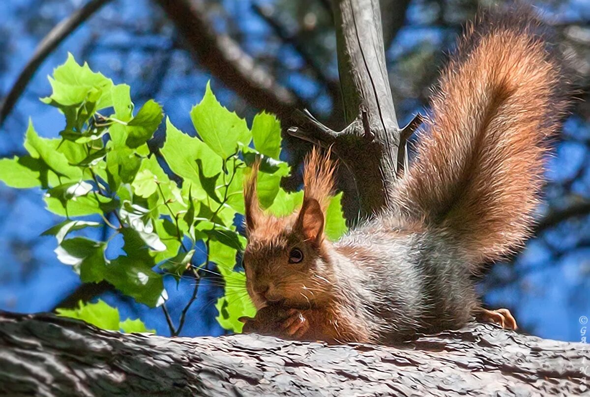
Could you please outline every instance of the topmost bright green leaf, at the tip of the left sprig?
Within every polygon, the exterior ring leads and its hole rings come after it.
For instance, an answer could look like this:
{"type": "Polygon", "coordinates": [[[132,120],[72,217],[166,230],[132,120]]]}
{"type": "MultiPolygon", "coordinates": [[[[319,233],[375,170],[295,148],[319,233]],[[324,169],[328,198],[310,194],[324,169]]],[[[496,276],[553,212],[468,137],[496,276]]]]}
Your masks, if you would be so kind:
{"type": "Polygon", "coordinates": [[[110,90],[113,81],[91,71],[87,63],[78,65],[72,54],[68,53],[65,63],[54,69],[49,82],[53,93],[43,99],[45,103],[53,100],[62,106],[71,106],[89,100],[95,103],[93,108],[96,110],[112,106],[110,90]]]}

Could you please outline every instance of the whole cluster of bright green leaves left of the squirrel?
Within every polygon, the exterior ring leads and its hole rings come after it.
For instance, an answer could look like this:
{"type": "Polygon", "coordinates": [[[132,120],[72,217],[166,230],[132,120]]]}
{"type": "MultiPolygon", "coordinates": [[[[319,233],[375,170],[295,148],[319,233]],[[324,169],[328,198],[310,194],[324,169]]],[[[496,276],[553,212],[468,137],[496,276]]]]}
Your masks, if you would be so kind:
{"type": "MultiPolygon", "coordinates": [[[[59,137],[48,139],[30,122],[24,142],[27,154],[0,159],[0,180],[13,188],[41,188],[47,210],[64,217],[44,232],[57,239],[57,258],[84,283],[106,280],[151,307],[168,297],[165,277],[178,280],[188,275],[197,280],[198,288],[199,278],[217,274],[225,288],[216,304],[217,319],[239,332],[238,317],[255,312],[244,273],[236,266],[245,245],[240,232],[242,185],[254,159],[262,161],[258,196],[264,208],[284,215],[302,199],[302,192],[280,188],[290,170],[280,160],[281,127],[276,117],[258,113],[249,128],[219,103],[208,84],[191,110],[191,136],[164,120],[156,101],[135,109],[129,86],[114,84],[89,65],[78,64],[71,54],[49,80],[52,93],[41,100],[63,113],[65,126],[59,137]],[[161,124],[165,143],[158,153],[151,153],[147,142],[161,124]],[[84,229],[101,225],[112,229],[106,241],[84,237],[84,229]],[[118,235],[123,249],[107,258],[107,247],[118,235]]],[[[328,212],[327,235],[337,238],[346,231],[340,196],[328,212]]],[[[196,293],[195,289],[195,297],[196,293]]],[[[77,316],[88,320],[91,308],[106,310],[97,305],[81,307],[77,316]]],[[[109,327],[114,327],[116,316],[111,317],[109,327]]],[[[172,331],[178,333],[181,326],[172,331]]]]}

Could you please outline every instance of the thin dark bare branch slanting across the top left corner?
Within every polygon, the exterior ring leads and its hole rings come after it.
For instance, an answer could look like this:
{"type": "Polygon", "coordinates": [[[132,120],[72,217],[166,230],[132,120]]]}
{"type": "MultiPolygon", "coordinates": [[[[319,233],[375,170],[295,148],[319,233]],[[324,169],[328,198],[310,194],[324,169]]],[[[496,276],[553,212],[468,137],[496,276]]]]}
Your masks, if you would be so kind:
{"type": "Polygon", "coordinates": [[[86,19],[90,18],[94,12],[98,11],[103,5],[107,4],[111,0],[90,0],[86,3],[82,8],[78,9],[77,11],[73,12],[70,17],[64,19],[59,24],[57,24],[51,31],[41,40],[37,48],[35,48],[35,53],[32,55],[31,59],[22,69],[21,74],[19,74],[17,81],[13,84],[13,86],[6,94],[4,101],[2,102],[2,106],[0,106],[0,127],[10,114],[12,108],[17,103],[19,97],[21,96],[22,92],[27,87],[27,84],[34,76],[37,69],[41,66],[45,58],[55,48],[65,40],[78,26],[80,26],[86,19]]]}

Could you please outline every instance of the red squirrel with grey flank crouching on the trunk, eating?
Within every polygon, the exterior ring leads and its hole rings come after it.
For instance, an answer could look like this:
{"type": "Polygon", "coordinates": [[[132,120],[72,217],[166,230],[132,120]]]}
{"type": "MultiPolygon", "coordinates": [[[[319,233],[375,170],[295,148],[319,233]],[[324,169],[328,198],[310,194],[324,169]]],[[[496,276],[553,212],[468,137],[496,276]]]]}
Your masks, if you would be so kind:
{"type": "Polygon", "coordinates": [[[473,317],[516,329],[508,310],[483,309],[473,275],[529,234],[547,138],[565,114],[562,64],[540,27],[522,14],[468,25],[388,207],[336,242],[323,234],[329,154],[307,157],[303,204],[283,218],[261,210],[254,166],[243,259],[258,312],[244,332],[391,344],[473,317]]]}

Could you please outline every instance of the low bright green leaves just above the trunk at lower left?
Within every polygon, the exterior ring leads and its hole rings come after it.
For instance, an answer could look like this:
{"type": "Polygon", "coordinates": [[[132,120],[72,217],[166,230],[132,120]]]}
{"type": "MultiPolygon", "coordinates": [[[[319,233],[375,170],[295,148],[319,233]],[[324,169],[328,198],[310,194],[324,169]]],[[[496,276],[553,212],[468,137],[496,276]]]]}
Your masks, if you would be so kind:
{"type": "Polygon", "coordinates": [[[126,333],[155,333],[155,330],[148,330],[140,319],[120,321],[119,310],[116,307],[109,306],[100,299],[97,303],[83,303],[83,301],[80,301],[78,302],[77,309],[55,309],[55,311],[58,316],[83,320],[106,330],[123,330],[126,333]]]}

